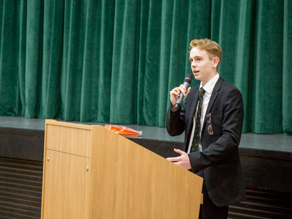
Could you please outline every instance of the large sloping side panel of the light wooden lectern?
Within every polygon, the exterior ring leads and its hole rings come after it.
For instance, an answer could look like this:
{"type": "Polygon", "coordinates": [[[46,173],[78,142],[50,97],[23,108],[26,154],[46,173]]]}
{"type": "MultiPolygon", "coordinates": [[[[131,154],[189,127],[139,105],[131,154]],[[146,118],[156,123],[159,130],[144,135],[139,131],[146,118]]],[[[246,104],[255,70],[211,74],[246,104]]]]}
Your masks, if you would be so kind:
{"type": "Polygon", "coordinates": [[[201,177],[104,127],[92,131],[91,194],[99,195],[90,218],[198,218],[201,177]]]}

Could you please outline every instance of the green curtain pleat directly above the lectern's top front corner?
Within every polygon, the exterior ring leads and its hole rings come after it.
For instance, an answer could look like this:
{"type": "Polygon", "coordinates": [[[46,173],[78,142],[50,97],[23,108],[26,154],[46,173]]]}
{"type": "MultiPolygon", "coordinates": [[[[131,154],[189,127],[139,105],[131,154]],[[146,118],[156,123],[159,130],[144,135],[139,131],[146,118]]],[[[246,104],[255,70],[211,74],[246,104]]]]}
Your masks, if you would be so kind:
{"type": "Polygon", "coordinates": [[[100,29],[102,4],[88,1],[86,5],[86,26],[82,69],[80,121],[94,121],[97,116],[100,29]],[[98,8],[99,10],[95,10],[98,8]]]}

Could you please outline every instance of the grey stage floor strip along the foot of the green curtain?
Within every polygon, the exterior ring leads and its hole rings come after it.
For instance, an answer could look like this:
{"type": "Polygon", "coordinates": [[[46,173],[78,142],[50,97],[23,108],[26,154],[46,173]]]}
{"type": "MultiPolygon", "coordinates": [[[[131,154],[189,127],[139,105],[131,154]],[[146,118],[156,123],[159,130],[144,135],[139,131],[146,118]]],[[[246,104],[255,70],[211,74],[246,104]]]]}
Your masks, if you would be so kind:
{"type": "MultiPolygon", "coordinates": [[[[58,121],[63,121],[59,120],[58,121]]],[[[101,125],[109,123],[94,123],[94,122],[76,122],[67,121],[72,123],[80,123],[86,125],[101,125]]],[[[178,136],[170,136],[165,127],[155,126],[138,126],[138,125],[124,125],[134,130],[142,131],[142,135],[137,139],[151,139],[167,142],[184,142],[185,133],[178,136]]],[[[23,117],[13,116],[0,116],[1,132],[5,128],[26,129],[26,130],[45,130],[44,119],[25,119],[23,117]]],[[[284,136],[284,134],[255,134],[255,133],[242,133],[239,148],[257,149],[267,151],[278,151],[292,153],[292,136],[284,136]]]]}

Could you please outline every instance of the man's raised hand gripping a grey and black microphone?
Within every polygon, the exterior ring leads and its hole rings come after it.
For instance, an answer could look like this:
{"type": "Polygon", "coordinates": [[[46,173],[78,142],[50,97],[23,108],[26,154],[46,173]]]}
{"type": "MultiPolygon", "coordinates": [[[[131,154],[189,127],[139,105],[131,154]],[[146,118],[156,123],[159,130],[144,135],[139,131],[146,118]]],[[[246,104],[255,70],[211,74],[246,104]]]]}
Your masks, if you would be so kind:
{"type": "Polygon", "coordinates": [[[170,91],[171,107],[173,110],[177,110],[181,106],[183,100],[190,93],[190,84],[192,83],[193,75],[187,74],[184,83],[179,87],[176,87],[170,91]]]}

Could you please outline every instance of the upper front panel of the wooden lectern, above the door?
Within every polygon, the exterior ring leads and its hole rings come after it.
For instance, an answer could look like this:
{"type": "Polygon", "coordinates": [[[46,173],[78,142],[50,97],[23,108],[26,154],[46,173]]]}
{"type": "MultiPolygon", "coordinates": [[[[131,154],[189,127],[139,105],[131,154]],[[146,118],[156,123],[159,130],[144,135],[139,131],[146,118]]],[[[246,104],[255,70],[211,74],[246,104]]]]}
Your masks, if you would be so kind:
{"type": "Polygon", "coordinates": [[[50,136],[46,138],[47,149],[90,157],[91,126],[73,123],[65,126],[64,122],[51,123],[51,121],[46,123],[46,135],[50,136]],[[56,125],[58,123],[62,126],[56,125]]]}

